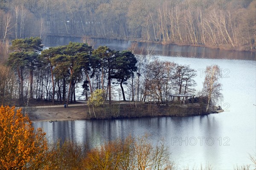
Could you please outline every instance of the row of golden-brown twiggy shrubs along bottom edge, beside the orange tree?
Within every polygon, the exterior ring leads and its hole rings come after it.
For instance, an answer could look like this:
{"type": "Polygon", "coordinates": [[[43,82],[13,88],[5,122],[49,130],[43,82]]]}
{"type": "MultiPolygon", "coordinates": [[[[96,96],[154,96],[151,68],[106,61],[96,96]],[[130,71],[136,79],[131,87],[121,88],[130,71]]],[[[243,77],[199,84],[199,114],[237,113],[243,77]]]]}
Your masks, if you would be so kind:
{"type": "Polygon", "coordinates": [[[49,153],[49,169],[58,170],[173,170],[163,141],[152,146],[148,136],[128,136],[87,150],[80,144],[57,142],[49,153]]]}

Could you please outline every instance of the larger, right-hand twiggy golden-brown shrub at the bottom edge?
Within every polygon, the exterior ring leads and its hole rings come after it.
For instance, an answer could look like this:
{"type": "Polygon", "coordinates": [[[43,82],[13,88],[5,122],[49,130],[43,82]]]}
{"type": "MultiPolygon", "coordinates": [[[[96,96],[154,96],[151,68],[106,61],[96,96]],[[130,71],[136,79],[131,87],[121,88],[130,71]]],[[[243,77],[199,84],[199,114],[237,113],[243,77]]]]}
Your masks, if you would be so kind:
{"type": "Polygon", "coordinates": [[[84,159],[85,170],[172,170],[168,148],[163,141],[153,147],[148,136],[116,139],[89,151],[84,159]]]}

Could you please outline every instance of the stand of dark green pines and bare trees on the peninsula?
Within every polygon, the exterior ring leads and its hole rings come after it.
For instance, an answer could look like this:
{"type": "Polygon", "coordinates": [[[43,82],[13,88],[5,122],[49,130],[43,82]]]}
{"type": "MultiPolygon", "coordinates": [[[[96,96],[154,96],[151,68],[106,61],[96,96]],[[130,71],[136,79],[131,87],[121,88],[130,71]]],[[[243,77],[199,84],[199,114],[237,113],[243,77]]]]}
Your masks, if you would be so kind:
{"type": "MultiPolygon", "coordinates": [[[[3,104],[12,99],[18,99],[19,105],[27,105],[31,99],[68,104],[76,102],[78,92],[88,100],[96,89],[105,92],[102,97],[109,104],[118,96],[124,101],[164,103],[170,101],[170,94],[195,93],[194,69],[155,59],[152,49],[137,48],[137,44],[115,51],[107,46],[93,49],[87,43],[70,42],[43,50],[41,39],[30,37],[13,40],[12,46],[2,48],[6,52],[1,54],[3,104]]],[[[200,95],[207,96],[210,105],[221,97],[220,68],[209,66],[205,73],[200,95]]]]}

